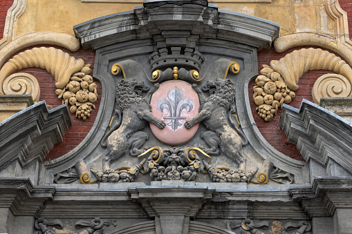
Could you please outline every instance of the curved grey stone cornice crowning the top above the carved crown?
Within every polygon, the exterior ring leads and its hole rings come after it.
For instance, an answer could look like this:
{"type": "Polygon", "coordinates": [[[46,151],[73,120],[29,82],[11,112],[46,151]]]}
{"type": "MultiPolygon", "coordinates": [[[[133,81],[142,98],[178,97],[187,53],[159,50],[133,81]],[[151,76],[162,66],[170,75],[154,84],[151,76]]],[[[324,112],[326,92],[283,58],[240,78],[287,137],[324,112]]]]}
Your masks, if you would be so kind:
{"type": "Polygon", "coordinates": [[[217,10],[216,6],[207,5],[206,1],[199,1],[198,5],[189,4],[192,7],[182,10],[177,10],[172,4],[156,8],[158,4],[160,5],[158,2],[146,1],[144,7],[137,6],[133,12],[100,17],[80,23],[73,29],[83,48],[91,47],[95,50],[131,39],[150,39],[160,31],[167,30],[167,20],[182,23],[183,30],[196,32],[198,37],[241,41],[259,49],[270,48],[271,41],[279,32],[277,23],[246,14],[217,10]]]}

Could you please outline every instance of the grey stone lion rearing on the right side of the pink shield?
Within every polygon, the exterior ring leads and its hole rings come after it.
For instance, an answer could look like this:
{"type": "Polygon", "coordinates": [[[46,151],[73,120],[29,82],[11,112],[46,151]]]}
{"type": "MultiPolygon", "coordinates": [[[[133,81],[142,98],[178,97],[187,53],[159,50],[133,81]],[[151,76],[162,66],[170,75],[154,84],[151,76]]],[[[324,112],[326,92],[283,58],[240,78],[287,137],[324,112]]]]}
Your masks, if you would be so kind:
{"type": "MultiPolygon", "coordinates": [[[[201,98],[201,90],[196,86],[193,87],[201,98]]],[[[242,145],[248,143],[247,139],[235,126],[232,128],[228,124],[228,119],[232,124],[232,119],[228,118],[227,113],[234,102],[234,83],[230,79],[207,81],[205,90],[210,92],[210,97],[205,99],[196,117],[185,121],[185,127],[189,129],[203,121],[210,129],[202,135],[209,146],[205,148],[205,152],[212,155],[219,154],[220,146],[225,155],[237,162],[241,170],[245,170],[246,159],[243,157],[242,145]]]]}

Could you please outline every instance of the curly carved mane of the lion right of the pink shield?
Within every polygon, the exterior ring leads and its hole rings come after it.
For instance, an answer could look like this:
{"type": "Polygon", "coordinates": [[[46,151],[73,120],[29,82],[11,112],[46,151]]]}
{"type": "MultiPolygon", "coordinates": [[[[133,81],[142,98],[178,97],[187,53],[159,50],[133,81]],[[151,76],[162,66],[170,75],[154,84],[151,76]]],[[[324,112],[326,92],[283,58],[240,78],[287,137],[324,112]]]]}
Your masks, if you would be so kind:
{"type": "MultiPolygon", "coordinates": [[[[221,82],[221,85],[216,88],[216,91],[210,97],[207,97],[203,103],[211,102],[214,105],[222,106],[226,110],[230,111],[232,101],[234,101],[234,82],[230,79],[225,79],[221,82]]],[[[201,106],[200,110],[203,108],[201,106]]]]}

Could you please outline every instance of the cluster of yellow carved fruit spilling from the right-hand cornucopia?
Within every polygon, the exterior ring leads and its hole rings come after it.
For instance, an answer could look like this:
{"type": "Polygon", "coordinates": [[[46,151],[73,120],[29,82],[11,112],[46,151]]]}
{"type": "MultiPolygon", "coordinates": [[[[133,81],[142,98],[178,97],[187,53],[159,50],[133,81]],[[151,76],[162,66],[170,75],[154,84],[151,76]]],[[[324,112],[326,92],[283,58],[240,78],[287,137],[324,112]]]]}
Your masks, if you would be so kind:
{"type": "Polygon", "coordinates": [[[270,66],[263,65],[263,69],[255,79],[256,86],[253,87],[254,103],[257,105],[257,113],[265,121],[270,121],[277,110],[283,104],[289,104],[295,97],[279,72],[275,72],[270,66]]]}

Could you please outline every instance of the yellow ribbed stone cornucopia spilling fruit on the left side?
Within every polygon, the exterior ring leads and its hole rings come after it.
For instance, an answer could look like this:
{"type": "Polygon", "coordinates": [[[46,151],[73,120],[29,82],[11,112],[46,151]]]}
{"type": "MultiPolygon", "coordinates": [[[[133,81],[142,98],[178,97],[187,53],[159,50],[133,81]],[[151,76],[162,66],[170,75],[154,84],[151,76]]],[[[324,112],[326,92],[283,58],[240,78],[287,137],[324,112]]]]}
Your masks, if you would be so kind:
{"type": "Polygon", "coordinates": [[[75,59],[56,48],[26,50],[9,59],[1,68],[0,94],[7,94],[7,79],[13,72],[32,67],[46,69],[55,77],[55,92],[59,99],[62,99],[62,103],[71,104],[70,112],[85,120],[91,115],[92,107],[95,108],[94,103],[98,100],[97,85],[89,75],[90,66],[84,64],[82,59],[75,59]]]}

